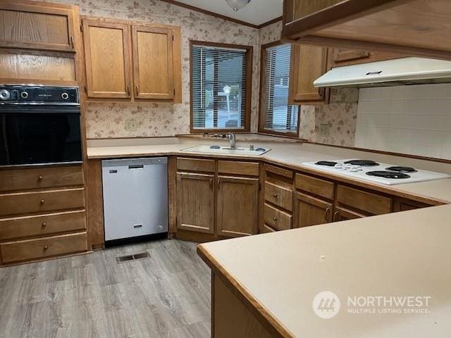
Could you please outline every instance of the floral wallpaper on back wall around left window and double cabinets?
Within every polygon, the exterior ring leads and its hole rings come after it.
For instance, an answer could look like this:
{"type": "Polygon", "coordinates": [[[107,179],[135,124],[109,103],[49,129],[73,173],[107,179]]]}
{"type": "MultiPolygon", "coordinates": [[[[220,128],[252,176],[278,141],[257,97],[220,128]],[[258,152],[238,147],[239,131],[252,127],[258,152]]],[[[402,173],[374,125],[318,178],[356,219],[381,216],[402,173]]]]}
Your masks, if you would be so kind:
{"type": "Polygon", "coordinates": [[[182,104],[97,104],[86,111],[87,137],[158,137],[190,133],[190,39],[254,47],[252,131],[257,131],[259,96],[259,30],[214,18],[159,0],[51,0],[80,7],[80,15],[145,23],[179,25],[182,31],[182,104]],[[137,131],[125,130],[125,120],[136,120],[137,131]]]}

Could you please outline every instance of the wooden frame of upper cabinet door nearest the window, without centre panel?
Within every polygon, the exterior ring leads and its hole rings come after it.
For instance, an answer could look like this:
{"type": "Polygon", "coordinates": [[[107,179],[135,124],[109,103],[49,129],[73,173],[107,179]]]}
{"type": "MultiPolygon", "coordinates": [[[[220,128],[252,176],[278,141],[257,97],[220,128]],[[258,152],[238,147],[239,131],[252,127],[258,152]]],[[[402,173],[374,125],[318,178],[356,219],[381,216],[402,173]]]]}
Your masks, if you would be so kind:
{"type": "Polygon", "coordinates": [[[175,88],[173,79],[173,32],[169,28],[164,27],[152,27],[142,25],[132,25],[132,55],[133,55],[133,75],[135,84],[135,98],[137,99],[160,99],[171,100],[174,98],[175,88]],[[164,34],[167,37],[167,58],[166,63],[168,67],[167,79],[168,79],[168,92],[167,93],[145,93],[142,92],[140,87],[140,49],[138,34],[140,32],[164,34]]]}

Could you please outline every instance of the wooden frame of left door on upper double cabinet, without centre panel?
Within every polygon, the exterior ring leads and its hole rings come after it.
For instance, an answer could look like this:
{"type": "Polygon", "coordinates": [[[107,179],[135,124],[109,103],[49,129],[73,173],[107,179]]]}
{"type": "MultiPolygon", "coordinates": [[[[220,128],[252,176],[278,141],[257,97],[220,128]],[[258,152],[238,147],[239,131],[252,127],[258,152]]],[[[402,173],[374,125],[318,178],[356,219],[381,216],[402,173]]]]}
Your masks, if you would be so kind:
{"type": "MultiPolygon", "coordinates": [[[[125,23],[109,22],[106,20],[95,19],[83,19],[83,41],[85,44],[85,65],[86,65],[86,81],[87,81],[87,96],[98,98],[130,98],[131,92],[131,58],[130,58],[130,25],[125,23]],[[89,27],[99,28],[111,28],[114,30],[122,31],[122,44],[123,44],[123,68],[124,68],[124,91],[123,92],[107,92],[107,91],[94,91],[94,78],[92,74],[92,51],[91,51],[91,37],[89,33],[89,27]]],[[[99,75],[101,76],[101,75],[99,75]]]]}

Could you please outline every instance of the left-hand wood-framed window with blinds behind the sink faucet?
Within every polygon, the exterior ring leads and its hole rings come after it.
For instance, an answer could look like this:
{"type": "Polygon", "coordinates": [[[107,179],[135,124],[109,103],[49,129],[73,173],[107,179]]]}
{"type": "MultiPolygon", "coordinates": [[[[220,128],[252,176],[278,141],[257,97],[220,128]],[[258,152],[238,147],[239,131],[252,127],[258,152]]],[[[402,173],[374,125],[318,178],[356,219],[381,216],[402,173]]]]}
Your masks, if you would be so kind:
{"type": "Polygon", "coordinates": [[[190,42],[191,132],[249,131],[252,46],[190,42]]]}

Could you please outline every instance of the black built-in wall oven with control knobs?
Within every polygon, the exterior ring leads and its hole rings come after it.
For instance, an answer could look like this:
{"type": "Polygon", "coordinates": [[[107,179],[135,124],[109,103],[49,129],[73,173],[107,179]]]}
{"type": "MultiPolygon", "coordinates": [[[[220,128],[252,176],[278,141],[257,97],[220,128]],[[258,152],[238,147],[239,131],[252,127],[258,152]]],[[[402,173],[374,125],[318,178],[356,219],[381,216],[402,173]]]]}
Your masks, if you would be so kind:
{"type": "Polygon", "coordinates": [[[0,165],[82,163],[78,87],[0,85],[0,165]]]}

